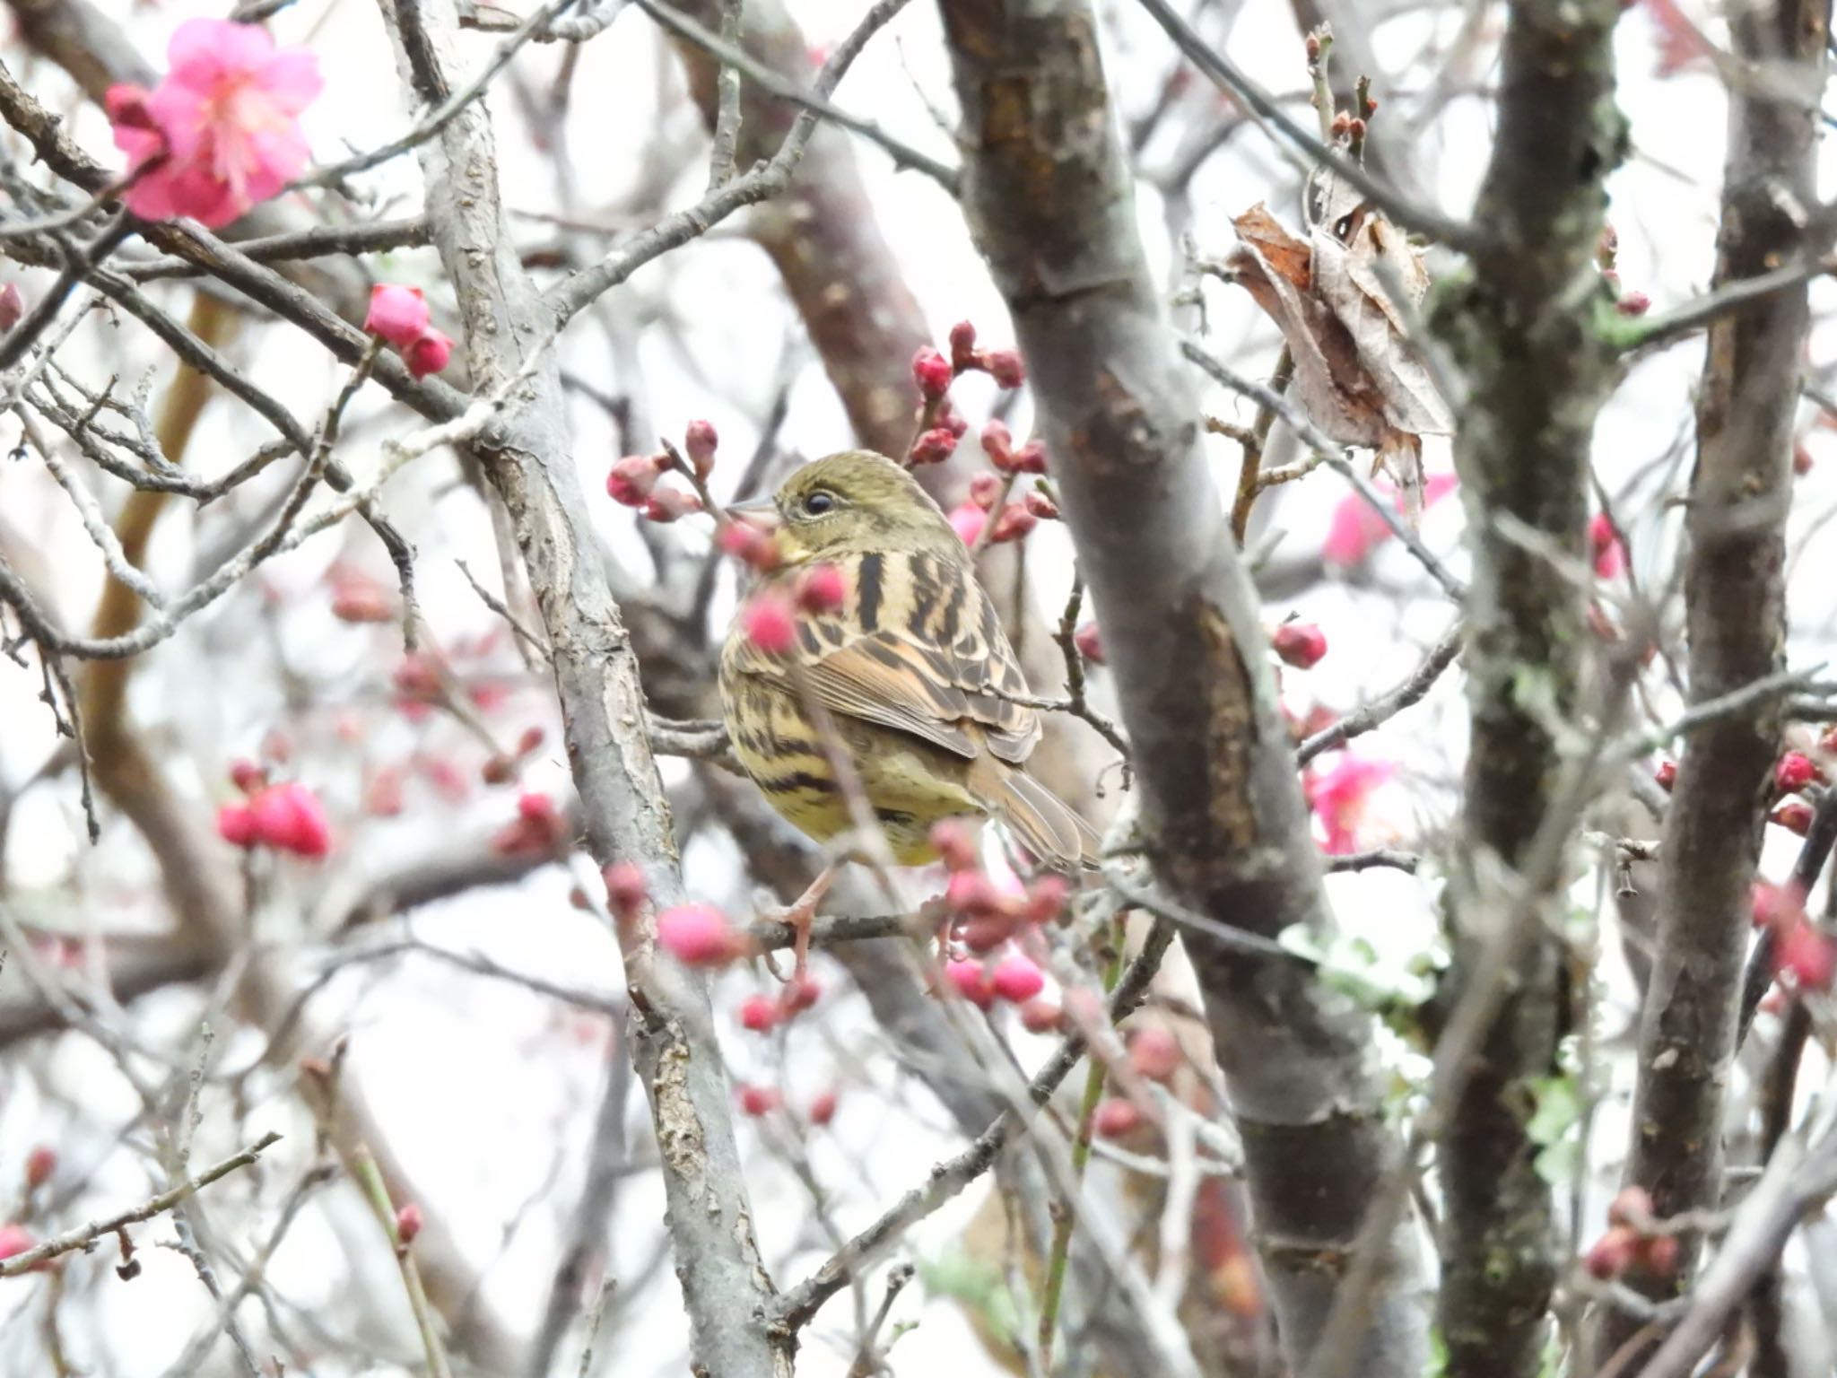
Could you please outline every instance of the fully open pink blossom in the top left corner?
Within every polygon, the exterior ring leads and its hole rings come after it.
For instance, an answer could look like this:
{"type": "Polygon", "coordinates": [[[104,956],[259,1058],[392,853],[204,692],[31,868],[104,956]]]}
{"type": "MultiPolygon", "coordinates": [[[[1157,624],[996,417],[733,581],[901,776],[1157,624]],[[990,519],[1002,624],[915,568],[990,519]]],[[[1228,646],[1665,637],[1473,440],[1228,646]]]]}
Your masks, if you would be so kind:
{"type": "Polygon", "coordinates": [[[152,92],[108,90],[116,147],[140,173],[127,208],[147,220],[189,215],[215,230],[307,165],[298,116],[323,86],[318,59],[222,18],[180,24],[167,59],[173,70],[152,92]]]}

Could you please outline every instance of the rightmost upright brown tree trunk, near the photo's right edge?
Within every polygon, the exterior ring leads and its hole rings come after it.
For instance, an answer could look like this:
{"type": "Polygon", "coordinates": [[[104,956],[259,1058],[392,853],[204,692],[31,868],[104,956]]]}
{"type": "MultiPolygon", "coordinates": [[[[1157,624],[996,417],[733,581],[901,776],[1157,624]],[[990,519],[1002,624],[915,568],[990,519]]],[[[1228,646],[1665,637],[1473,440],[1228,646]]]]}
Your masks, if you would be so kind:
{"type": "MultiPolygon", "coordinates": [[[[1732,92],[1716,287],[1754,277],[1806,248],[1797,206],[1815,200],[1819,119],[1804,92],[1822,88],[1828,29],[1830,0],[1786,0],[1730,17],[1745,62],[1789,62],[1798,81],[1732,92]]],[[[1692,704],[1784,669],[1786,514],[1808,322],[1808,290],[1798,285],[1710,327],[1685,516],[1692,704]]],[[[1782,709],[1782,698],[1769,696],[1718,715],[1692,733],[1677,768],[1659,851],[1659,941],[1626,1163],[1626,1181],[1646,1187],[1659,1214],[1714,1207],[1721,1198],[1723,1097],[1736,1049],[1749,887],[1782,709]]],[[[1683,1244],[1681,1277],[1688,1277],[1696,1240],[1683,1244]]],[[[1596,1356],[1629,1334],[1622,1316],[1604,1314],[1596,1356]]]]}

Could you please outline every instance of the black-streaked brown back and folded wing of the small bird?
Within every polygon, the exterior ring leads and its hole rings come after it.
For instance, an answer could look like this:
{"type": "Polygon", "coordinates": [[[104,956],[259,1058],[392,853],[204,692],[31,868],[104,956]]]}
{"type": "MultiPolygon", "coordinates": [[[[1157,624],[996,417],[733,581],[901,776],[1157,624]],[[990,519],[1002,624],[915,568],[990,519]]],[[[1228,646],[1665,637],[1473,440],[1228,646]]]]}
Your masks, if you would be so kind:
{"type": "Polygon", "coordinates": [[[832,612],[797,616],[797,647],[737,647],[735,669],[808,683],[832,713],[909,731],[974,759],[1020,764],[1040,740],[1027,680],[988,593],[964,562],[930,553],[840,560],[849,593],[832,612]],[[795,667],[795,671],[794,671],[795,667]]]}

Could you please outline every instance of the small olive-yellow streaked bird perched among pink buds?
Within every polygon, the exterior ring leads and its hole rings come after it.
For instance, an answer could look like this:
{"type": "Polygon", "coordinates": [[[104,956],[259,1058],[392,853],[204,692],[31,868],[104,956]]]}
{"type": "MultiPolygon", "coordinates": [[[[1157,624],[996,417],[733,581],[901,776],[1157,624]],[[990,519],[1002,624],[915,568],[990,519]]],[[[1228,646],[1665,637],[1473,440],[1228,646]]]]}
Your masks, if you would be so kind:
{"type": "MultiPolygon", "coordinates": [[[[1027,774],[1040,715],[963,538],[911,474],[871,450],[845,450],[792,474],[764,514],[777,568],[753,599],[795,606],[783,647],[762,647],[738,617],[720,656],[733,751],[766,799],[817,841],[852,825],[817,720],[852,762],[862,794],[902,865],[937,860],[944,818],[1005,823],[1042,864],[1093,865],[1097,832],[1027,774]],[[817,566],[841,575],[828,606],[795,601],[817,566]]],[[[806,941],[832,869],[788,911],[806,941]]],[[[799,954],[803,946],[799,946],[799,954]]]]}

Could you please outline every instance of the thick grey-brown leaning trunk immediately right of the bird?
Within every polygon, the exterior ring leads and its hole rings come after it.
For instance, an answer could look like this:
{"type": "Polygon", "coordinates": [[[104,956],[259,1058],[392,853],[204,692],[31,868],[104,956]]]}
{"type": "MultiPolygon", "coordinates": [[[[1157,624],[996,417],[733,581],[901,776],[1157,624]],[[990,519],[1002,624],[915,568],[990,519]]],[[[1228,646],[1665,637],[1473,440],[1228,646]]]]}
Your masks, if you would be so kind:
{"type": "MultiPolygon", "coordinates": [[[[966,213],[1032,369],[1060,505],[1110,643],[1155,875],[1189,908],[1262,939],[1324,928],[1255,590],[1143,261],[1097,22],[1076,0],[942,9],[964,110],[966,213]]],[[[1211,933],[1190,933],[1189,952],[1244,1134],[1264,1273],[1299,1367],[1396,1158],[1370,1025],[1301,963],[1247,955],[1211,933]]],[[[1411,1224],[1376,1253],[1387,1286],[1361,1328],[1363,1372],[1413,1378],[1427,1328],[1411,1297],[1411,1224]]]]}

